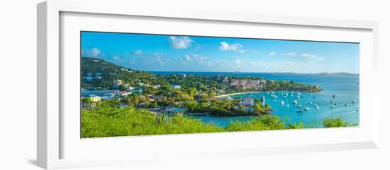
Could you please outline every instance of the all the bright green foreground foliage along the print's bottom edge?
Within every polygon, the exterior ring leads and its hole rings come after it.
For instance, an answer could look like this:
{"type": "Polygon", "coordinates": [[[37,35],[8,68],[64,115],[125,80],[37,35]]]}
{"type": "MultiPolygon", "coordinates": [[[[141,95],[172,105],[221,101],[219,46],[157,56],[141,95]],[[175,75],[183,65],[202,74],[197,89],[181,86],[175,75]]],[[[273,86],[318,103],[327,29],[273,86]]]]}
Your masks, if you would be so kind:
{"type": "MultiPolygon", "coordinates": [[[[89,110],[82,109],[82,138],[304,128],[302,122],[286,125],[284,119],[270,115],[253,116],[245,122],[234,121],[223,128],[186,116],[153,114],[134,107],[119,108],[116,104],[115,101],[103,101],[89,110]]],[[[191,102],[186,104],[196,106],[191,102]]],[[[323,123],[327,128],[355,126],[342,119],[325,119],[323,123]]]]}

